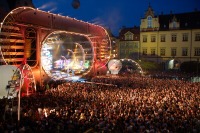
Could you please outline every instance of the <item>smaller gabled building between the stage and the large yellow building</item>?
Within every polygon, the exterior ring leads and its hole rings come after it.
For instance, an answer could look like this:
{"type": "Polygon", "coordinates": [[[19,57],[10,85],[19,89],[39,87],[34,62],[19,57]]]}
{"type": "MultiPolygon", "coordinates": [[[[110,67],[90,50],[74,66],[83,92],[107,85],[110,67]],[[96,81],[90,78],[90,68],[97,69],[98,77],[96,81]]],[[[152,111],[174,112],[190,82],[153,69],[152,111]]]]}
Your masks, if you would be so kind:
{"type": "Polygon", "coordinates": [[[123,27],[119,33],[118,58],[139,59],[140,28],[123,27]]]}

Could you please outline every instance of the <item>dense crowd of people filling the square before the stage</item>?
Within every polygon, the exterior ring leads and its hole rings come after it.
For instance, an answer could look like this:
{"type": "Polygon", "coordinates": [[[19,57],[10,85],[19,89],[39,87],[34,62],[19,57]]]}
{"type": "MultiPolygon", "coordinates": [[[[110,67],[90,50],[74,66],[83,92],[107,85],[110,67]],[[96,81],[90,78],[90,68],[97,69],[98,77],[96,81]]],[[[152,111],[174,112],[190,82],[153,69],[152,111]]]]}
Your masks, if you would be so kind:
{"type": "Polygon", "coordinates": [[[200,83],[100,76],[0,100],[0,132],[199,133],[200,83]]]}

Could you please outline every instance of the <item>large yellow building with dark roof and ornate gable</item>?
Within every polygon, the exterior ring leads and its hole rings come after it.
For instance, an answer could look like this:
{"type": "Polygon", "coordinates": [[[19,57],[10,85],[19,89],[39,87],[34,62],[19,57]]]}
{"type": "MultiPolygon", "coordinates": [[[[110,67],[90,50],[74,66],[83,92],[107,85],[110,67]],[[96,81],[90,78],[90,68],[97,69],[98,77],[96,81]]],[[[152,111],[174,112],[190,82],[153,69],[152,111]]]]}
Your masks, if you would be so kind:
{"type": "Polygon", "coordinates": [[[199,58],[200,11],[156,16],[149,6],[140,24],[140,59],[178,69],[199,58]]]}

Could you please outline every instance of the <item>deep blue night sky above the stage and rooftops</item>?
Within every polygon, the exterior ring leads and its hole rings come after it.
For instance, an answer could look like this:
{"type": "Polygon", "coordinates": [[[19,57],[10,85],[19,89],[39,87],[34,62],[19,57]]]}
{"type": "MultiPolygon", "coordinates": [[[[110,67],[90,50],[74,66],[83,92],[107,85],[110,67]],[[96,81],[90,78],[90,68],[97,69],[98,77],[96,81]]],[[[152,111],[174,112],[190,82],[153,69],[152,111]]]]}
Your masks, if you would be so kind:
{"type": "Polygon", "coordinates": [[[200,11],[200,0],[79,0],[78,9],[72,1],[33,0],[33,4],[40,10],[104,26],[116,36],[122,26],[139,26],[149,3],[156,15],[200,11]]]}

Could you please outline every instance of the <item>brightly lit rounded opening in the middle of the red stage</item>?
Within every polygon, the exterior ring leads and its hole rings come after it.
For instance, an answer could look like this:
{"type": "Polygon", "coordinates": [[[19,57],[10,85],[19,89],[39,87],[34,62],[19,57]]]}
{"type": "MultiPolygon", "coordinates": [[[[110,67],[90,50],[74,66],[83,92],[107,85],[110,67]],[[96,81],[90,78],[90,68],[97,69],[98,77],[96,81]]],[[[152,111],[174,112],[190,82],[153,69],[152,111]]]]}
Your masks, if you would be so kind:
{"type": "Polygon", "coordinates": [[[93,65],[93,47],[83,34],[53,32],[41,48],[41,64],[53,80],[78,80],[93,65]]]}

